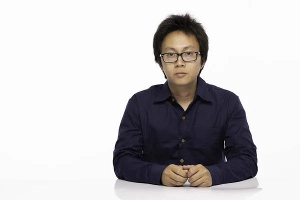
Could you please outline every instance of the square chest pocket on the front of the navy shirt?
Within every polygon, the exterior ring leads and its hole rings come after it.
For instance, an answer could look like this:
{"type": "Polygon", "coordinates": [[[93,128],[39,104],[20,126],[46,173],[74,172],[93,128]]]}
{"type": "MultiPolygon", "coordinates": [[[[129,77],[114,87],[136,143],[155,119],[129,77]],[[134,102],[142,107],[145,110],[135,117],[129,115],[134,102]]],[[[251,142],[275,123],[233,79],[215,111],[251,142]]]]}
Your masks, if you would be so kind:
{"type": "Polygon", "coordinates": [[[222,148],[224,140],[221,127],[195,127],[195,148],[222,148]]]}

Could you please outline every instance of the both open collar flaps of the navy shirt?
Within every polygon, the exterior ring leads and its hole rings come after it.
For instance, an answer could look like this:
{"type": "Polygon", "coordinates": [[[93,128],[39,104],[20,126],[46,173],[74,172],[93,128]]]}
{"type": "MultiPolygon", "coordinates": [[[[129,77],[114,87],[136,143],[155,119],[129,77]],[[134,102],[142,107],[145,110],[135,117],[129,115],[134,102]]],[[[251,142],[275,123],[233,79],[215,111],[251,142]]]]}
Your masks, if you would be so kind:
{"type": "MultiPolygon", "coordinates": [[[[196,86],[196,93],[195,95],[199,96],[200,98],[211,101],[211,95],[208,91],[208,85],[207,83],[200,77],[197,77],[197,86],[196,86]]],[[[167,80],[162,85],[160,91],[158,91],[158,94],[155,98],[155,102],[163,101],[167,98],[171,97],[171,91],[168,87],[167,80]]]]}

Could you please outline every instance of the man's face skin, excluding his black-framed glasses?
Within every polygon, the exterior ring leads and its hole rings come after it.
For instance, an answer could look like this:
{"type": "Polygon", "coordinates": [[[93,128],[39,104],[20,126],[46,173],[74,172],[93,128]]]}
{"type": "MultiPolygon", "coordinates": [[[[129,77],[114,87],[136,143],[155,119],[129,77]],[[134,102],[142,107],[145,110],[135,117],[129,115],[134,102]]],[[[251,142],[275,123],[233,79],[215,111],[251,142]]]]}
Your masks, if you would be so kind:
{"type": "MultiPolygon", "coordinates": [[[[200,51],[198,41],[194,35],[188,36],[182,31],[173,31],[168,33],[161,43],[161,53],[182,53],[186,51],[200,51]]],[[[197,54],[197,59],[194,61],[183,61],[181,56],[178,56],[177,61],[172,63],[164,62],[162,57],[160,59],[162,63],[161,70],[164,71],[167,80],[175,85],[186,85],[193,82],[201,68],[199,54],[197,54]],[[175,73],[178,71],[186,74],[183,76],[176,75],[175,73]]]]}

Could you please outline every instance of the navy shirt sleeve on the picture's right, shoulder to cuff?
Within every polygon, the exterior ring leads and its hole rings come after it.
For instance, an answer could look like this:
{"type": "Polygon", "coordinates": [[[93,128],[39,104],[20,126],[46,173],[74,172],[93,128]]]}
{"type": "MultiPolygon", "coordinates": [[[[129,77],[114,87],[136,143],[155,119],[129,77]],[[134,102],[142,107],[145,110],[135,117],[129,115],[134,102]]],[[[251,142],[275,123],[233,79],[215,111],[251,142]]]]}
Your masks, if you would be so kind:
{"type": "Polygon", "coordinates": [[[212,185],[252,178],[258,170],[256,146],[239,97],[232,94],[228,104],[224,133],[224,154],[227,161],[205,166],[211,174],[212,185]]]}

